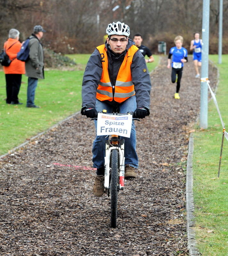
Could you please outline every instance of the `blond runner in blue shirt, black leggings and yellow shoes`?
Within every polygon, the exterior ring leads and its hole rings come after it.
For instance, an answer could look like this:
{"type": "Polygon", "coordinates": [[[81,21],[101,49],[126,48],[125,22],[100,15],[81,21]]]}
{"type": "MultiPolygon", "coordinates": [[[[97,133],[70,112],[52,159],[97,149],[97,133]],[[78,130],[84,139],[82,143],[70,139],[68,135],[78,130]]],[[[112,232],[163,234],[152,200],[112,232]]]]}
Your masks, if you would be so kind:
{"type": "Polygon", "coordinates": [[[171,81],[172,83],[177,82],[177,88],[176,88],[176,93],[174,94],[174,98],[180,99],[180,96],[179,96],[180,80],[182,76],[184,63],[188,61],[188,52],[184,47],[182,47],[182,44],[183,44],[182,36],[176,36],[174,39],[174,43],[176,44],[176,46],[172,47],[169,51],[167,68],[172,67],[171,81]],[[171,63],[171,56],[173,56],[172,63],[171,63]]]}

